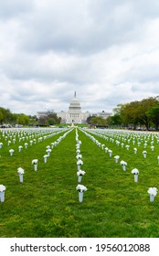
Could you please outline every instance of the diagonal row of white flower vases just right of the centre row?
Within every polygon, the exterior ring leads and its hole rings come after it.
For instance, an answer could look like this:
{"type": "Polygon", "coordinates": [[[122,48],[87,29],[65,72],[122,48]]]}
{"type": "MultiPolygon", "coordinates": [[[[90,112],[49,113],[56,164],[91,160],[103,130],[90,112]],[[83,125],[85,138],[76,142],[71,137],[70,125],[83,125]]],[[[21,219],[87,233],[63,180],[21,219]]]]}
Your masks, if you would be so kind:
{"type": "MultiPolygon", "coordinates": [[[[105,147],[105,144],[101,144],[97,139],[95,139],[92,135],[90,135],[90,133],[95,133],[95,132],[90,132],[86,133],[86,131],[83,131],[80,129],[81,132],[85,133],[87,136],[90,137],[90,139],[96,143],[98,146],[101,147],[102,150],[105,149],[105,152],[109,152],[110,157],[111,157],[111,153],[112,151],[108,149],[108,147],[105,147]]],[[[99,135],[100,132],[98,132],[97,134],[99,135]]],[[[96,133],[95,133],[96,134],[96,133]]],[[[101,134],[100,134],[101,135],[101,134]]],[[[157,137],[157,143],[159,143],[159,139],[157,137]]],[[[146,157],[146,152],[143,152],[144,157],[146,157]]],[[[119,155],[115,155],[114,156],[115,159],[115,163],[119,162],[120,156],[119,155]]],[[[159,156],[157,157],[158,159],[158,163],[159,163],[159,156]]],[[[125,161],[121,161],[120,164],[122,165],[122,170],[126,171],[126,166],[127,166],[127,162],[125,161]]],[[[139,170],[137,168],[132,169],[132,174],[134,176],[134,182],[138,182],[138,175],[139,175],[139,170]]],[[[153,202],[154,201],[154,197],[157,195],[158,189],[156,187],[150,187],[147,192],[150,194],[150,201],[153,202]]]]}

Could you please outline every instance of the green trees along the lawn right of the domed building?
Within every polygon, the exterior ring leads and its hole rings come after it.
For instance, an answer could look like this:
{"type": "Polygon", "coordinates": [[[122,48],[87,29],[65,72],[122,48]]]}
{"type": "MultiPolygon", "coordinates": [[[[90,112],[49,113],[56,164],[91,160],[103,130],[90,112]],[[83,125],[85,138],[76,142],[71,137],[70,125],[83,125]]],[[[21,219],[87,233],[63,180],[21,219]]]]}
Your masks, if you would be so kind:
{"type": "Polygon", "coordinates": [[[118,104],[107,119],[90,117],[90,125],[133,130],[159,129],[159,96],[118,104]]]}

